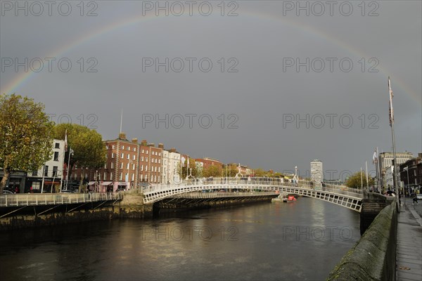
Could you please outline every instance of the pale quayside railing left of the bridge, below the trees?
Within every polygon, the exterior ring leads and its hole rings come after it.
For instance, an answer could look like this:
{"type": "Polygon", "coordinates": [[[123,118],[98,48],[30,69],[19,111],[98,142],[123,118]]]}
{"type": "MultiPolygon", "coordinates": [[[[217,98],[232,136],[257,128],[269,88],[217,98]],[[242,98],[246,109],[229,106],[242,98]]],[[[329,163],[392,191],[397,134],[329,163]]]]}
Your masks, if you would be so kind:
{"type": "Polygon", "coordinates": [[[78,204],[108,200],[122,200],[121,192],[96,193],[24,193],[1,195],[0,207],[78,204]]]}

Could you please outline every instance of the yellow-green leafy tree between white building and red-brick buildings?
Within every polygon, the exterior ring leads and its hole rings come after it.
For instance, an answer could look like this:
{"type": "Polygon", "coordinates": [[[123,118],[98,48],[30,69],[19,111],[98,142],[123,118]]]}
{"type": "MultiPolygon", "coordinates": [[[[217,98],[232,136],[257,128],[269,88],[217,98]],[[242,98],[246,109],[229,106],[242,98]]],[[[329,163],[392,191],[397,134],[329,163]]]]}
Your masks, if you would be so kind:
{"type": "Polygon", "coordinates": [[[58,124],[54,126],[54,138],[64,140],[66,131],[68,132],[66,163],[69,159],[70,148],[73,150],[73,155],[70,155],[70,174],[75,164],[89,169],[99,169],[106,163],[106,145],[100,133],[78,124],[58,124]]]}

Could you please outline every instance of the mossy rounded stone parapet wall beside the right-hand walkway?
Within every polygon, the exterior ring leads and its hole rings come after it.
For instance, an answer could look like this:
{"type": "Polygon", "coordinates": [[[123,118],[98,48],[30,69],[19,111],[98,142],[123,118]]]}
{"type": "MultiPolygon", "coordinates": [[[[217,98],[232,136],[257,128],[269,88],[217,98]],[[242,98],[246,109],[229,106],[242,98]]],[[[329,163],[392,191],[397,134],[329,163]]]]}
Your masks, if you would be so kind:
{"type": "Polygon", "coordinates": [[[327,280],[395,280],[397,204],[385,207],[327,280]]]}

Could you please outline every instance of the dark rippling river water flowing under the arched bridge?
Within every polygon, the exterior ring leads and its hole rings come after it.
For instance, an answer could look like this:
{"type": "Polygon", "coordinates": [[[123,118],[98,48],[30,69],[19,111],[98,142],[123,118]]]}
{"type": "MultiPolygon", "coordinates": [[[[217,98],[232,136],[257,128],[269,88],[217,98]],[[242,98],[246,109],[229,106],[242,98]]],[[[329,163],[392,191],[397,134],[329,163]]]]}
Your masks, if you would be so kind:
{"type": "Polygon", "coordinates": [[[301,197],[1,233],[1,280],[325,280],[359,214],[301,197]]]}

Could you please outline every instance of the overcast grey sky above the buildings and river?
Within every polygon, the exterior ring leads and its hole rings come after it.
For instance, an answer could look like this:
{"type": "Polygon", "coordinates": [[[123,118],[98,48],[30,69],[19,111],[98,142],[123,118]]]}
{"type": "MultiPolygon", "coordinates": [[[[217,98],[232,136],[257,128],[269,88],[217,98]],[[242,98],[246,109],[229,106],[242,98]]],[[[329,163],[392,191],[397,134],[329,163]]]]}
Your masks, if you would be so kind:
{"type": "Polygon", "coordinates": [[[25,2],[1,1],[0,89],[55,122],[114,139],[123,110],[129,139],[338,176],[392,150],[390,76],[397,152],[422,151],[421,1],[25,2]]]}

